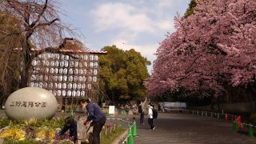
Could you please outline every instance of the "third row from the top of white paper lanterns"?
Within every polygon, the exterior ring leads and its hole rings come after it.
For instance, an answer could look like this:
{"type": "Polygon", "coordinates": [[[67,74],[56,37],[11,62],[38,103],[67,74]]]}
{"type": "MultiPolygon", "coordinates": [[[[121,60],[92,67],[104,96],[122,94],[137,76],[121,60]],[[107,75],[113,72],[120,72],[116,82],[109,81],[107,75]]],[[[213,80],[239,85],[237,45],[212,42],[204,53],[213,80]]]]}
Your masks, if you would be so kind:
{"type": "MultiPolygon", "coordinates": [[[[50,74],[75,74],[75,75],[84,75],[87,74],[87,70],[86,69],[62,69],[62,68],[46,68],[45,69],[46,73],[50,73],[50,74]]],[[[33,74],[38,74],[38,70],[35,69],[33,70],[33,74]]],[[[89,70],[89,75],[97,75],[98,74],[98,70],[94,69],[94,70],[89,70]]]]}

